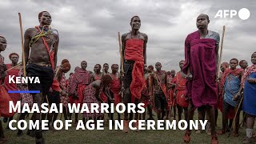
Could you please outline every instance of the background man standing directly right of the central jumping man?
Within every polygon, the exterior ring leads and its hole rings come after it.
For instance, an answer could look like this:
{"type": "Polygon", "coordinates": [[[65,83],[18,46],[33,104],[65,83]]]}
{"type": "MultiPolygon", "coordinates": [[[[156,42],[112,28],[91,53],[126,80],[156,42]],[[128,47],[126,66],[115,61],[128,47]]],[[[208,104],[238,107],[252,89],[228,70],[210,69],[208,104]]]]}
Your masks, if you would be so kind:
{"type": "MultiPolygon", "coordinates": [[[[145,68],[146,68],[146,66],[145,66],[145,68]]],[[[147,118],[147,120],[154,120],[153,114],[152,114],[152,106],[153,106],[153,102],[154,102],[154,100],[153,100],[154,97],[152,97],[152,94],[150,94],[150,74],[152,74],[153,71],[154,71],[154,66],[151,66],[151,65],[148,66],[146,68],[146,70],[144,70],[145,83],[144,83],[143,90],[142,90],[141,102],[144,103],[143,107],[147,107],[148,114],[150,116],[150,118],[147,118]]],[[[142,114],[142,119],[145,120],[145,118],[146,118],[146,110],[142,114]]]]}

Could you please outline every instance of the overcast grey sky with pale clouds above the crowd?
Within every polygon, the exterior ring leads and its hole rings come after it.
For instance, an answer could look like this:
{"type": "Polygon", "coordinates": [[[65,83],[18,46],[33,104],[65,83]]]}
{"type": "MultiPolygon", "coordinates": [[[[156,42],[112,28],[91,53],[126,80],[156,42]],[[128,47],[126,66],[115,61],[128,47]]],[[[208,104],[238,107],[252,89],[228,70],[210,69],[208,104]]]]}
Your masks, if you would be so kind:
{"type": "Polygon", "coordinates": [[[222,35],[226,26],[223,61],[246,59],[256,51],[255,0],[0,0],[0,35],[6,37],[2,52],[6,63],[11,52],[22,54],[18,13],[22,14],[23,32],[38,26],[38,13],[52,15],[51,27],[58,30],[60,42],[58,64],[63,58],[71,63],[71,71],[80,62],[88,62],[88,70],[96,63],[119,63],[118,31],[129,32],[130,18],[138,15],[140,31],[148,35],[147,63],[162,62],[163,70],[178,70],[184,59],[187,34],[197,30],[198,14],[208,14],[209,30],[222,35]],[[250,10],[250,18],[214,18],[218,10],[250,10]]]}

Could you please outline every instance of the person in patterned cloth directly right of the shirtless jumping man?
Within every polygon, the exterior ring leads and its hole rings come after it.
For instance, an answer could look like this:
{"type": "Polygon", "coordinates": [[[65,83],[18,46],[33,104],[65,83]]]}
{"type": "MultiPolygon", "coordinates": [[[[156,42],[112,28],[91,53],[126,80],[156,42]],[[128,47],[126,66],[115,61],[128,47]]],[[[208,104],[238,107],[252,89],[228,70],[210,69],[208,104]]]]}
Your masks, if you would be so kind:
{"type": "Polygon", "coordinates": [[[65,120],[68,120],[69,119],[68,117],[70,116],[69,110],[67,108],[67,104],[69,103],[69,95],[68,95],[68,91],[66,90],[67,86],[66,86],[66,77],[65,77],[65,74],[70,71],[70,68],[71,66],[69,62],[63,63],[56,75],[57,80],[60,84],[59,86],[61,87],[60,98],[63,106],[62,109],[63,109],[65,120]]]}

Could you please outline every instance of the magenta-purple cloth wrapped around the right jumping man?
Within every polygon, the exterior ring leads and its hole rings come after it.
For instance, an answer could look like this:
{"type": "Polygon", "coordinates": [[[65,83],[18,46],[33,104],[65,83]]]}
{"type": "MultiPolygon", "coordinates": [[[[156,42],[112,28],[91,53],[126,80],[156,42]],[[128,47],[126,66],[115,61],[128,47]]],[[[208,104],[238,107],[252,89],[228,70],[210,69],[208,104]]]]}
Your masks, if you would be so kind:
{"type": "Polygon", "coordinates": [[[193,80],[187,82],[187,90],[194,106],[214,106],[218,101],[215,48],[216,41],[210,38],[200,39],[198,31],[186,38],[183,72],[187,74],[190,69],[193,75],[193,80]]]}

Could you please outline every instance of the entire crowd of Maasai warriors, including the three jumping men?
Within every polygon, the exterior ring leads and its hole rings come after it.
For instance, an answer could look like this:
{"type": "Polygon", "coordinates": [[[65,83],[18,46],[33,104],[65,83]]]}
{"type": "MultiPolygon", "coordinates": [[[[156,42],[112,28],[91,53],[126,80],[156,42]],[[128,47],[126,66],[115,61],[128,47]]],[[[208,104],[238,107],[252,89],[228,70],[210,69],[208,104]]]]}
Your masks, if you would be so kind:
{"type": "MultiPolygon", "coordinates": [[[[4,58],[0,55],[0,79],[1,94],[6,90],[40,90],[39,94],[9,94],[15,103],[21,100],[22,105],[33,103],[41,105],[47,102],[62,103],[63,115],[66,120],[71,118],[66,106],[68,103],[86,103],[90,108],[91,103],[144,103],[149,118],[154,119],[153,110],[158,120],[184,119],[187,122],[194,118],[194,110],[198,110],[198,119],[207,119],[210,126],[211,143],[218,143],[218,134],[225,134],[231,129],[228,120],[234,121],[234,136],[238,136],[240,110],[244,111],[244,123],[246,124],[246,139],[244,143],[253,142],[254,118],[256,115],[256,52],[251,55],[252,66],[248,66],[245,60],[238,62],[232,58],[230,62],[223,62],[218,78],[218,46],[219,34],[208,30],[210,22],[206,14],[200,14],[197,18],[198,30],[189,34],[185,41],[185,60],[178,63],[180,70],[162,70],[160,62],[154,66],[146,65],[146,43],[148,37],[139,32],[141,20],[138,16],[130,19],[132,30],[122,34],[121,64],[113,64],[111,72],[109,65],[105,63],[103,68],[100,64],[94,66],[94,73],[86,70],[87,62],[82,61],[81,67],[76,67],[74,73],[66,78],[65,74],[70,71],[70,62],[62,60],[57,66],[58,32],[50,28],[51,16],[42,11],[38,14],[40,26],[26,30],[24,35],[24,55],[26,74],[23,66],[18,64],[19,55],[10,54],[11,64],[4,64],[4,58]],[[238,64],[241,69],[237,68],[238,64]],[[247,67],[248,66],[248,67],[247,67]],[[119,67],[122,67],[118,73],[119,67]],[[101,70],[103,70],[101,72],[101,70]],[[8,83],[8,75],[38,77],[37,84],[14,84],[8,83]],[[242,106],[239,106],[242,103],[242,106]],[[215,130],[217,125],[218,108],[222,111],[222,130],[215,130]],[[174,113],[172,113],[174,112],[174,113]],[[238,114],[235,114],[237,113],[238,114]],[[234,118],[236,115],[236,118],[234,118]],[[206,117],[206,118],[205,118],[206,117]]],[[[6,50],[6,38],[0,36],[0,52],[6,50]]],[[[7,98],[6,94],[5,97],[7,98]]],[[[0,99],[0,103],[1,103],[0,99]]],[[[2,103],[0,107],[3,106],[2,103]]],[[[6,105],[5,105],[6,106],[6,105]]],[[[2,107],[1,107],[2,108],[2,107]]],[[[5,110],[8,108],[3,107],[5,110]]],[[[99,107],[99,110],[101,107],[99,107]]],[[[137,108],[138,109],[138,108],[137,108]]],[[[28,114],[20,114],[22,120],[28,114]]],[[[5,117],[2,111],[0,116],[5,117]]],[[[10,122],[13,114],[5,122],[10,122]]],[[[32,114],[32,120],[47,119],[50,125],[58,118],[58,114],[32,114]]],[[[61,114],[62,117],[62,114],[61,114]]],[[[104,114],[84,113],[83,121],[88,119],[104,119],[104,114]]],[[[113,114],[108,114],[113,120],[113,114]]],[[[145,114],[123,114],[124,132],[129,132],[130,120],[146,119],[145,114]]],[[[121,120],[121,114],[118,114],[121,120]]],[[[74,116],[74,122],[78,123],[78,114],[74,116]]],[[[134,123],[138,128],[138,121],[134,123]]],[[[8,126],[7,126],[8,127],[8,126]]],[[[200,132],[200,130],[199,130],[200,132]]],[[[44,143],[42,130],[28,130],[27,134],[35,137],[36,143],[44,143]]],[[[18,130],[22,135],[22,130],[18,130]]],[[[183,140],[190,142],[191,130],[186,130],[183,140]]],[[[0,143],[6,142],[0,121],[0,143]]]]}

